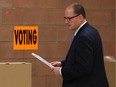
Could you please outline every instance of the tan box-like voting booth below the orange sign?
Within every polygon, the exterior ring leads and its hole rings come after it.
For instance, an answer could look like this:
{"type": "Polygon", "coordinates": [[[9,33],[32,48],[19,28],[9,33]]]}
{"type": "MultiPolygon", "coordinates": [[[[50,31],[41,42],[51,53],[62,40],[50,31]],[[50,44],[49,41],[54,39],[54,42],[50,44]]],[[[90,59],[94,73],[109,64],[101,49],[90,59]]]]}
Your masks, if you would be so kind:
{"type": "Polygon", "coordinates": [[[0,62],[0,87],[31,87],[31,64],[0,62]]]}

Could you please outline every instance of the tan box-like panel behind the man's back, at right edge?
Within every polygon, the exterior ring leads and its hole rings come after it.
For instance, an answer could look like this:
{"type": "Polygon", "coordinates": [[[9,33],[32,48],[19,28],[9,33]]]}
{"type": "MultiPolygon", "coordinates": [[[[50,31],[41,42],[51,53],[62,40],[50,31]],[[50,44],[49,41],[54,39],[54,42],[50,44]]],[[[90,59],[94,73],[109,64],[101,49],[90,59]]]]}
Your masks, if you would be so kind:
{"type": "Polygon", "coordinates": [[[116,87],[116,62],[105,62],[106,74],[110,87],[116,87]]]}

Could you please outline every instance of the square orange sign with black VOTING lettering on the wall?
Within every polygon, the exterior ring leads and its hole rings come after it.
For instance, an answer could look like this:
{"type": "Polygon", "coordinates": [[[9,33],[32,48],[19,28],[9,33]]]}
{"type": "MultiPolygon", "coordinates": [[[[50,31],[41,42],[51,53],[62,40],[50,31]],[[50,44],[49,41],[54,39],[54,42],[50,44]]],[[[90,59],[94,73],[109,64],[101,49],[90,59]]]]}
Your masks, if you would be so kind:
{"type": "Polygon", "coordinates": [[[38,26],[14,26],[14,50],[37,50],[38,26]]]}

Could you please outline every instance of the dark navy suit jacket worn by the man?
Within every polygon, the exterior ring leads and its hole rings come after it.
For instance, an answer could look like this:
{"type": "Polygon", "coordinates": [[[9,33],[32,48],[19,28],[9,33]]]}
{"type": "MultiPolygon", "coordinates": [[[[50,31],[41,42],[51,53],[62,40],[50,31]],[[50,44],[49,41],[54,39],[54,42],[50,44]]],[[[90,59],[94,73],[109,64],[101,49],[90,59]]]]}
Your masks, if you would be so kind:
{"type": "Polygon", "coordinates": [[[109,87],[101,38],[88,23],[79,30],[61,63],[63,87],[109,87]]]}

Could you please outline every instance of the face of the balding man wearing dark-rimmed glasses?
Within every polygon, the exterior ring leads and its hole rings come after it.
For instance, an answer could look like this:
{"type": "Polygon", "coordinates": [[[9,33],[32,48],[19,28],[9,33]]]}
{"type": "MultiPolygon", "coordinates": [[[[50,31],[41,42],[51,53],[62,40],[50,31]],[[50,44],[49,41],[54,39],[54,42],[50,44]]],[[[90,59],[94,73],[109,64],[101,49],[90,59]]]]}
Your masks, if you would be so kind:
{"type": "Polygon", "coordinates": [[[69,29],[75,30],[80,26],[80,20],[76,14],[74,14],[73,8],[66,8],[65,10],[65,23],[69,26],[69,29]]]}

